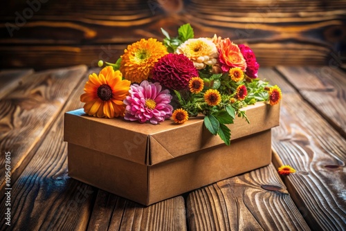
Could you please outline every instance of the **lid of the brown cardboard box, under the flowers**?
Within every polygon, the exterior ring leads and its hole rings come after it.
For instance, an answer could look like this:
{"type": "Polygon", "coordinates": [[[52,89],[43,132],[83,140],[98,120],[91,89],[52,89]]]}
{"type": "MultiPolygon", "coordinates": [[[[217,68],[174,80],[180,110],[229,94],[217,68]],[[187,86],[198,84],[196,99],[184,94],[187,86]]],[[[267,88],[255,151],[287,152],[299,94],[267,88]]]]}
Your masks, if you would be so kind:
{"type": "MultiPolygon", "coordinates": [[[[250,124],[242,118],[229,124],[232,140],[279,125],[280,105],[260,102],[244,110],[250,124]]],[[[184,124],[165,120],[153,125],[122,118],[93,118],[80,109],[66,113],[64,123],[65,141],[142,165],[156,165],[223,143],[204,127],[201,117],[184,124]]]]}

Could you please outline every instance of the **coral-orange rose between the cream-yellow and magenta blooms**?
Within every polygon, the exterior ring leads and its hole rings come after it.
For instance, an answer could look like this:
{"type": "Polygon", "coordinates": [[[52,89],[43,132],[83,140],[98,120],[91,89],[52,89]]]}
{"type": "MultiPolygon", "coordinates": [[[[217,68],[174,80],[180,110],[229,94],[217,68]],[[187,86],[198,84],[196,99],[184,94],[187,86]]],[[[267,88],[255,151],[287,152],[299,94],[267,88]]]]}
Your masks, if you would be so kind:
{"type": "Polygon", "coordinates": [[[219,59],[222,71],[229,71],[231,67],[239,67],[246,71],[246,61],[237,44],[233,44],[229,38],[219,43],[219,59]]]}

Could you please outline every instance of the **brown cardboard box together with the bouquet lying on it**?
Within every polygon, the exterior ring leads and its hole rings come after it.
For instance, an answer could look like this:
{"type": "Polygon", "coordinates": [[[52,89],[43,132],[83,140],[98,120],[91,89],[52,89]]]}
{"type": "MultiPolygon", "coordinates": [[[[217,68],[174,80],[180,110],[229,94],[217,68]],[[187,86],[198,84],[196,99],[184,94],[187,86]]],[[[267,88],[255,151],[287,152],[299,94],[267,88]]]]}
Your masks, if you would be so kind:
{"type": "Polygon", "coordinates": [[[84,109],[64,117],[69,176],[143,205],[268,165],[280,118],[281,91],[248,46],[162,31],[100,61],[84,109]]]}

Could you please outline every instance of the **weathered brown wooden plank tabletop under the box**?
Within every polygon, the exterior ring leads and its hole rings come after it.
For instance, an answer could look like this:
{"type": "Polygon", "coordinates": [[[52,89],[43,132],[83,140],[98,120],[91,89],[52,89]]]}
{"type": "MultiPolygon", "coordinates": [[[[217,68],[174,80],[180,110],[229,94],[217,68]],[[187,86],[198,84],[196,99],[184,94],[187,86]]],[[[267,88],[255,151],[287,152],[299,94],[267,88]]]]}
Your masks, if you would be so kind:
{"type": "Polygon", "coordinates": [[[273,163],[148,207],[67,175],[63,115],[93,71],[0,72],[1,230],[346,230],[343,70],[262,68],[284,95],[273,163]],[[280,177],[282,164],[297,172],[280,177]]]}

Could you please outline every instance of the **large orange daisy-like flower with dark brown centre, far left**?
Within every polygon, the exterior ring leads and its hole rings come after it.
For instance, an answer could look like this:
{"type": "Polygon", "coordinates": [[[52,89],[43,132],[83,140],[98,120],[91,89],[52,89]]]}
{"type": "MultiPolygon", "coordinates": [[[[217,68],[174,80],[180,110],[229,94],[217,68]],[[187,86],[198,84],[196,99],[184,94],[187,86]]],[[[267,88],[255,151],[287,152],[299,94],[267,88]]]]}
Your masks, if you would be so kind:
{"type": "Polygon", "coordinates": [[[89,81],[84,86],[85,93],[80,95],[80,101],[85,102],[84,112],[98,118],[114,118],[123,116],[125,100],[129,93],[129,80],[122,80],[120,71],[113,67],[103,68],[98,75],[89,75],[89,81]]]}

